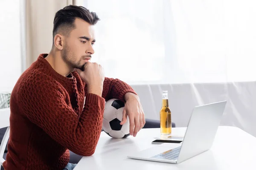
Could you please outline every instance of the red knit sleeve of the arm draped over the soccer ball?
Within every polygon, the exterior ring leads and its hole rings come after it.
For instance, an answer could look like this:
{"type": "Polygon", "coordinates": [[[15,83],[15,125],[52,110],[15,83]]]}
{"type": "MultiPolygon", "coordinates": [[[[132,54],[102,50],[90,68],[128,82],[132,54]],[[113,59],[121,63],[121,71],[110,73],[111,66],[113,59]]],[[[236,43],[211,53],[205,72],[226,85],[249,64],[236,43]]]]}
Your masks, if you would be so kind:
{"type": "MultiPolygon", "coordinates": [[[[85,85],[84,92],[86,94],[87,85],[85,85]]],[[[119,79],[105,77],[103,83],[102,97],[106,101],[112,98],[116,98],[125,102],[125,94],[128,92],[136,94],[136,92],[127,83],[119,79]]]]}

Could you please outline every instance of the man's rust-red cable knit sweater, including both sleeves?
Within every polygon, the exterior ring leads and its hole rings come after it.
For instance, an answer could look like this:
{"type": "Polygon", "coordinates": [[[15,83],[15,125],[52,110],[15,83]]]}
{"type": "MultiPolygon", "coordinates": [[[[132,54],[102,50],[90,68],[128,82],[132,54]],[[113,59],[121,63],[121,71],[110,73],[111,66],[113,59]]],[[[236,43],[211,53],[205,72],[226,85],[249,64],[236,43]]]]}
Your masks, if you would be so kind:
{"type": "Polygon", "coordinates": [[[105,78],[102,97],[87,94],[78,73],[61,76],[46,56],[38,57],[12,91],[5,170],[61,170],[69,162],[69,150],[92,155],[102,129],[105,100],[124,101],[125,93],[136,94],[128,84],[112,78],[105,78]]]}

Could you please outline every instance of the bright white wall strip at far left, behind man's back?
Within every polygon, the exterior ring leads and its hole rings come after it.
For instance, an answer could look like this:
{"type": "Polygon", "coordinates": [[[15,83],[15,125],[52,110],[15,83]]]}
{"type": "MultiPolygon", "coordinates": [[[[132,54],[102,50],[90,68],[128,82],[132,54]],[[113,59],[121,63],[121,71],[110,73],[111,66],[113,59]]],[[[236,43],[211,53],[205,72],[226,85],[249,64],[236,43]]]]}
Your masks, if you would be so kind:
{"type": "Polygon", "coordinates": [[[21,66],[20,0],[1,0],[0,92],[12,91],[21,66]]]}

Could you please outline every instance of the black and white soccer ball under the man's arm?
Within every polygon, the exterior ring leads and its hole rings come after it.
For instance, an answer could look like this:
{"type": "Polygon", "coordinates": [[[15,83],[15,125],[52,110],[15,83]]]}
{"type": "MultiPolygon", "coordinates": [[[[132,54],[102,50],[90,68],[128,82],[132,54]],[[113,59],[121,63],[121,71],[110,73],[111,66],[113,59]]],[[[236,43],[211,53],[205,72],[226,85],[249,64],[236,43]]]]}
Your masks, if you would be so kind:
{"type": "Polygon", "coordinates": [[[105,103],[102,130],[113,138],[130,136],[129,118],[127,117],[124,125],[120,125],[124,107],[125,103],[119,99],[110,99],[105,103]]]}

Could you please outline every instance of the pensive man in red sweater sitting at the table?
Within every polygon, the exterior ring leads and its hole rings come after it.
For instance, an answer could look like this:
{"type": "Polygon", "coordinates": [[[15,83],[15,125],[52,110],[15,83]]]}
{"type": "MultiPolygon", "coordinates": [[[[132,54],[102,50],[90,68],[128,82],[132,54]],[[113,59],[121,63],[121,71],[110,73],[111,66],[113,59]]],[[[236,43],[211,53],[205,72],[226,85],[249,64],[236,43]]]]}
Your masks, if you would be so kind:
{"type": "Polygon", "coordinates": [[[131,135],[145,125],[134,90],[106,78],[101,65],[90,62],[98,20],[79,6],[55,14],[51,51],[38,57],[12,91],[6,170],[73,169],[69,150],[81,156],[94,153],[105,101],[111,98],[126,101],[120,124],[129,116],[131,135]]]}

